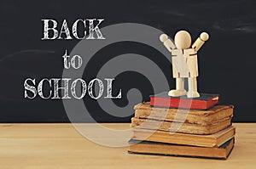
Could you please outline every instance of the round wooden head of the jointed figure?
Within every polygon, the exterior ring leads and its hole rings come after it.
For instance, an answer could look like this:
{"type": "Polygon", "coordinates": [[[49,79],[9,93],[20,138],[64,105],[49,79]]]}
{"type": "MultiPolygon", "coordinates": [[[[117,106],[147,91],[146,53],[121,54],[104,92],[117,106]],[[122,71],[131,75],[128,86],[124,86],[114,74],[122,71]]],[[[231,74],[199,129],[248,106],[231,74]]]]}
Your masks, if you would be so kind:
{"type": "Polygon", "coordinates": [[[187,49],[191,46],[191,37],[188,31],[177,31],[174,37],[175,45],[178,49],[187,49]]]}

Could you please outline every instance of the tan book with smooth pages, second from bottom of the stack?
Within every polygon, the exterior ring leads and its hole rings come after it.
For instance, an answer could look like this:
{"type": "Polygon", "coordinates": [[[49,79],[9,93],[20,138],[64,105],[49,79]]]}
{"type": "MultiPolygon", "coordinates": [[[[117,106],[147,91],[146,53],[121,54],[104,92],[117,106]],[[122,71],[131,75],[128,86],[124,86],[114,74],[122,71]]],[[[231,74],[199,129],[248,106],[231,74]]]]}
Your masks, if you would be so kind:
{"type": "Polygon", "coordinates": [[[224,130],[209,135],[186,134],[178,132],[162,132],[147,129],[134,129],[132,139],[160,142],[167,144],[185,144],[201,147],[219,147],[231,138],[234,138],[235,127],[228,127],[224,130]]]}

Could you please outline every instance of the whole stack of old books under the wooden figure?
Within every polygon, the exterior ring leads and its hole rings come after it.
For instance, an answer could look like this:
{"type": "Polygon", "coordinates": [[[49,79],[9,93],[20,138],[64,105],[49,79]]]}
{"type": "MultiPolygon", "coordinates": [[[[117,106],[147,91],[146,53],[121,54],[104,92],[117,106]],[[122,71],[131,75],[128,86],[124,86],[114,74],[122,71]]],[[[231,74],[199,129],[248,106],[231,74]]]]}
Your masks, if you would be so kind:
{"type": "Polygon", "coordinates": [[[226,159],[235,144],[234,106],[217,105],[218,99],[212,94],[198,99],[150,96],[150,103],[134,108],[128,152],[226,159]]]}

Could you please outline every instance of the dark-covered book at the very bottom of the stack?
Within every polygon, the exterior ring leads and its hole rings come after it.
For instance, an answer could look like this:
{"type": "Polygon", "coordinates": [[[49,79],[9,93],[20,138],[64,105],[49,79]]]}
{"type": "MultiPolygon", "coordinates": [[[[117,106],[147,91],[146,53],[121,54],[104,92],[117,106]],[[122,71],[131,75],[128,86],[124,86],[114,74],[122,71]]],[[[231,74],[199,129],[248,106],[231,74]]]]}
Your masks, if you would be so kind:
{"type": "Polygon", "coordinates": [[[227,159],[231,150],[234,147],[235,138],[230,139],[219,147],[196,147],[179,144],[162,144],[155,142],[142,141],[131,139],[129,142],[129,153],[143,155],[175,155],[175,156],[190,156],[213,159],[227,159]]]}

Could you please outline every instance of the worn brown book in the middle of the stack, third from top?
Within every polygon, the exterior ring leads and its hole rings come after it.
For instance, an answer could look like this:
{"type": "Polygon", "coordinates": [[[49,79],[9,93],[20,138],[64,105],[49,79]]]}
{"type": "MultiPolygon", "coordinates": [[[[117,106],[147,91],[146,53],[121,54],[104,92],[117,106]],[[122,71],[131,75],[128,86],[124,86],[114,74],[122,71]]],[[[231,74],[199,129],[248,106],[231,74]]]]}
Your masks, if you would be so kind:
{"type": "Polygon", "coordinates": [[[149,119],[131,118],[131,127],[160,130],[165,132],[183,132],[190,134],[212,134],[231,125],[231,118],[212,123],[211,125],[197,125],[172,121],[155,121],[149,119]]]}

